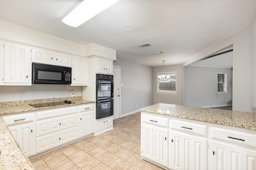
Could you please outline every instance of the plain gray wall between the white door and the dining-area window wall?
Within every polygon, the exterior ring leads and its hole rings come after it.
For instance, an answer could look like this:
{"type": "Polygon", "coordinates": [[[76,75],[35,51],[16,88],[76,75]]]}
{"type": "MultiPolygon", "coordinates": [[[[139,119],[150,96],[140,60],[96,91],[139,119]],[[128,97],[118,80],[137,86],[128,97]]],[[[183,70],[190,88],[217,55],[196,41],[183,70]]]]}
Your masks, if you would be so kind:
{"type": "Polygon", "coordinates": [[[153,67],[132,63],[117,57],[121,67],[121,116],[153,104],[153,67]],[[138,105],[138,108],[136,108],[138,105]]]}

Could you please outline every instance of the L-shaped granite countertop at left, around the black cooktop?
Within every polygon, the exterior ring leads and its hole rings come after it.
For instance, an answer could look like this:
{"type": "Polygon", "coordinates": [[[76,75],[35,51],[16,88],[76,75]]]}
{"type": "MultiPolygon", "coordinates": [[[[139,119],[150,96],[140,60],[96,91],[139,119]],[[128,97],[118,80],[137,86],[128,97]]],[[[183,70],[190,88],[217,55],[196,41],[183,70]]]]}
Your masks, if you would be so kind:
{"type": "MultiPolygon", "coordinates": [[[[95,101],[83,100],[82,96],[79,97],[61,97],[52,99],[36,99],[26,101],[10,101],[0,102],[0,115],[10,113],[21,113],[27,111],[38,111],[42,109],[50,109],[57,107],[66,107],[72,105],[81,105],[87,103],[95,103],[95,101]],[[35,108],[29,104],[37,103],[50,103],[58,101],[72,101],[74,104],[58,105],[51,107],[35,108]]],[[[24,154],[16,140],[12,136],[7,125],[4,123],[2,117],[0,117],[0,169],[1,170],[33,170],[31,162],[24,154]]]]}

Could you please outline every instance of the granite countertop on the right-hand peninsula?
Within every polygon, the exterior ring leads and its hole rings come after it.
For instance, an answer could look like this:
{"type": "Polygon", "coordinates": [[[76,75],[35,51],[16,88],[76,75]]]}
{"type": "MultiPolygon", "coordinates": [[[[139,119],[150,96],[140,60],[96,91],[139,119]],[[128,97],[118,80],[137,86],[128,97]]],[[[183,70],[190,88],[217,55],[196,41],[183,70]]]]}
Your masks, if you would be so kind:
{"type": "Polygon", "coordinates": [[[255,107],[253,113],[250,113],[158,103],[141,108],[139,111],[256,130],[255,107]]]}

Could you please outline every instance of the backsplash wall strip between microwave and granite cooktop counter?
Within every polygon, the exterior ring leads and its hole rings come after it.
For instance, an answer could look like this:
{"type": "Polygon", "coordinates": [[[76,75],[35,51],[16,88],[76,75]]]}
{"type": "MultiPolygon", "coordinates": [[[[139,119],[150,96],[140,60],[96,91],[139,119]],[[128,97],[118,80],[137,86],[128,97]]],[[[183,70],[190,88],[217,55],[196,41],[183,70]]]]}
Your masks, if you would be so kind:
{"type": "Polygon", "coordinates": [[[82,96],[81,86],[41,84],[32,84],[32,86],[0,86],[0,102],[71,97],[72,90],[74,90],[75,96],[82,96]]]}

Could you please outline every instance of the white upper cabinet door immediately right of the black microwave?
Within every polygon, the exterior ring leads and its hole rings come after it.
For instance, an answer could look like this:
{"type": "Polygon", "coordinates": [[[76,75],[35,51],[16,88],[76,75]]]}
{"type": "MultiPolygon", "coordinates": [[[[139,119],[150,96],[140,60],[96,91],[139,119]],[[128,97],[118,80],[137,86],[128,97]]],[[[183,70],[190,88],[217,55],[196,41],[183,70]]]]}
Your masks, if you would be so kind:
{"type": "Polygon", "coordinates": [[[85,57],[73,57],[72,85],[88,85],[88,59],[85,57]]]}

